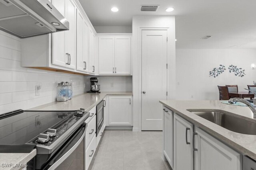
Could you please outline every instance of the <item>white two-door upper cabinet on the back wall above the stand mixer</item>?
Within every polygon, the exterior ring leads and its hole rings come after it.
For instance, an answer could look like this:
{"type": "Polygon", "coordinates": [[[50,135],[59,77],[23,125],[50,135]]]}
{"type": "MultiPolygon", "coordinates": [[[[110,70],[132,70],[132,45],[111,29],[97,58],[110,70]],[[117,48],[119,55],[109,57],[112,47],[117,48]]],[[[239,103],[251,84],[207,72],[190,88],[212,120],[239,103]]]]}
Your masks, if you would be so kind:
{"type": "Polygon", "coordinates": [[[131,37],[99,37],[99,74],[131,74],[131,37]]]}

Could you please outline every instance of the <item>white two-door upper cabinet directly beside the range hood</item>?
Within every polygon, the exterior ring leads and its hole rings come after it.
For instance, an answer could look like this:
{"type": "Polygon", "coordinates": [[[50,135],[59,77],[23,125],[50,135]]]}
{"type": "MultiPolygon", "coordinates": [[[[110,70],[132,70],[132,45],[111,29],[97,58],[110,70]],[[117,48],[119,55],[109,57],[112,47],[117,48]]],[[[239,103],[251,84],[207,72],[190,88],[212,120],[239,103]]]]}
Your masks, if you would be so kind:
{"type": "Polygon", "coordinates": [[[76,69],[76,6],[72,0],[52,0],[52,4],[69,21],[68,31],[52,34],[52,64],[76,69]]]}

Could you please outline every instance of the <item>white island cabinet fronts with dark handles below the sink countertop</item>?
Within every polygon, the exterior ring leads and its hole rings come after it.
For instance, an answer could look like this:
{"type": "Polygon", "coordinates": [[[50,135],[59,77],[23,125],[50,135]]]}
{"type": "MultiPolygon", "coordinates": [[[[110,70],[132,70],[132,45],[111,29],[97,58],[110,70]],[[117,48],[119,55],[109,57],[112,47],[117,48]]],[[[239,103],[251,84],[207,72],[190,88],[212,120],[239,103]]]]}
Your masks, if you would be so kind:
{"type": "Polygon", "coordinates": [[[170,109],[163,108],[163,152],[173,170],[242,170],[242,154],[170,109]]]}

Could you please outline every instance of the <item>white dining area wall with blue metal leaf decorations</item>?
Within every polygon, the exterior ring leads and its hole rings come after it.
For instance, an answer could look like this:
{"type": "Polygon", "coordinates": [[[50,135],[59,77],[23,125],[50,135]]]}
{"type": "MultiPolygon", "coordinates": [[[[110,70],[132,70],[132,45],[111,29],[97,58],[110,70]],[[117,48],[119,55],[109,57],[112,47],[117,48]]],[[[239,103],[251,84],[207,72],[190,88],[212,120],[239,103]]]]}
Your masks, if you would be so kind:
{"type": "Polygon", "coordinates": [[[247,84],[256,81],[256,49],[176,49],[176,100],[219,100],[217,86],[237,84],[239,91],[246,91],[247,84]],[[226,70],[218,77],[209,77],[209,71],[220,64],[226,70]],[[238,77],[228,70],[229,65],[245,69],[245,76],[238,77]]]}

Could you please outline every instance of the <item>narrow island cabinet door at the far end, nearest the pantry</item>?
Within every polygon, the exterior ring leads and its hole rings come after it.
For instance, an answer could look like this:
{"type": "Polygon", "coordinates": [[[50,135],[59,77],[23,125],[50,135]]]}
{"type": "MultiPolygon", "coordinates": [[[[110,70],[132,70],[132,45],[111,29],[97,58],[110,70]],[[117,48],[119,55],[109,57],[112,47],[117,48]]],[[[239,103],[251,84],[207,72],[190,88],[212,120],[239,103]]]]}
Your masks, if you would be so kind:
{"type": "Polygon", "coordinates": [[[173,168],[173,112],[163,107],[164,112],[164,156],[173,168]]]}

